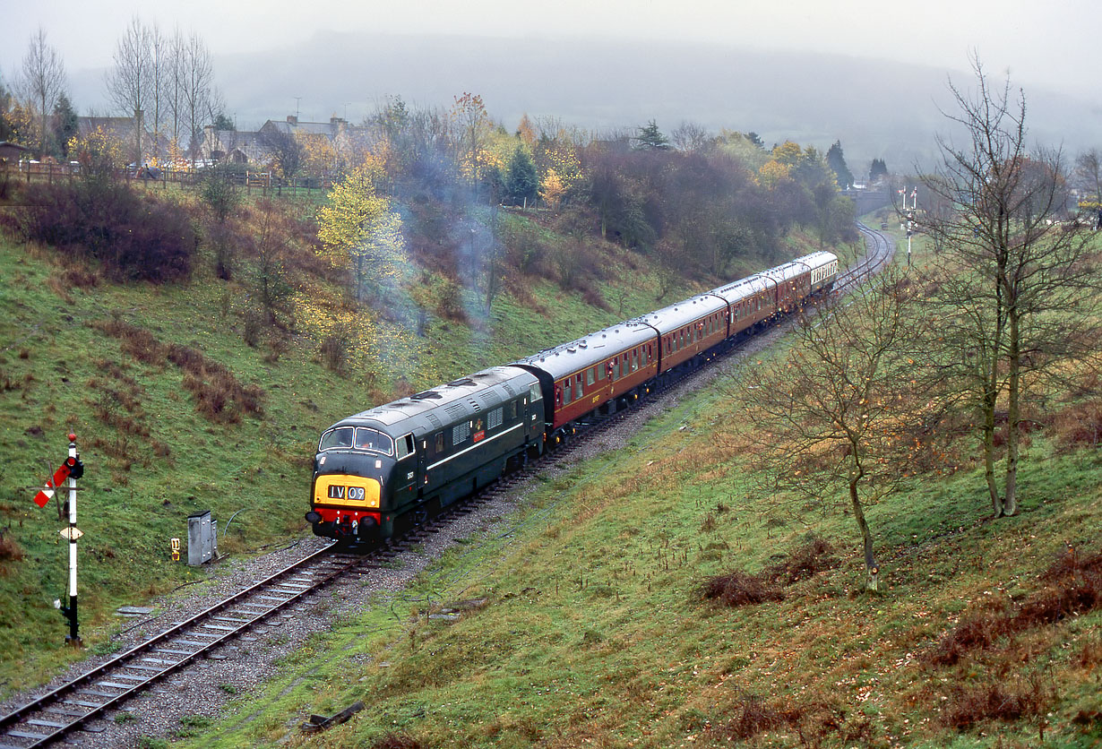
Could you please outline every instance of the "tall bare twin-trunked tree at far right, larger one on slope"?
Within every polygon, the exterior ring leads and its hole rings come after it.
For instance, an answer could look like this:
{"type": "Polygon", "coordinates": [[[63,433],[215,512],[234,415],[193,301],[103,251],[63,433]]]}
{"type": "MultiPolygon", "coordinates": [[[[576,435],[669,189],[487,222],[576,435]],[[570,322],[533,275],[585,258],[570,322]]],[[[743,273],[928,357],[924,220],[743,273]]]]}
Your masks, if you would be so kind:
{"type": "Polygon", "coordinates": [[[966,323],[934,355],[951,379],[971,386],[979,412],[987,489],[996,515],[1017,511],[1022,394],[1029,374],[1082,354],[1084,307],[1093,304],[1088,232],[1068,230],[1060,151],[1027,149],[1026,104],[1009,82],[993,88],[973,59],[976,90],[950,84],[962,146],[939,139],[942,163],[923,183],[954,209],[928,214],[922,228],[944,249],[938,298],[966,323]],[[1006,403],[1006,470],[995,478],[996,409],[1006,403]]]}

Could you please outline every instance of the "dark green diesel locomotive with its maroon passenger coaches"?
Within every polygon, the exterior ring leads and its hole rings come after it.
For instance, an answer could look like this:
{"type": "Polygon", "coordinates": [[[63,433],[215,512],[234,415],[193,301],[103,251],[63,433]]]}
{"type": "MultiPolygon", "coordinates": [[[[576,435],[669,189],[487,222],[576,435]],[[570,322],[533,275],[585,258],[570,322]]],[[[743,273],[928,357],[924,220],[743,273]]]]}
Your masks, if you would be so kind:
{"type": "Polygon", "coordinates": [[[376,544],[629,408],[830,292],[819,251],[347,416],[318,439],[305,519],[316,535],[376,544]]]}

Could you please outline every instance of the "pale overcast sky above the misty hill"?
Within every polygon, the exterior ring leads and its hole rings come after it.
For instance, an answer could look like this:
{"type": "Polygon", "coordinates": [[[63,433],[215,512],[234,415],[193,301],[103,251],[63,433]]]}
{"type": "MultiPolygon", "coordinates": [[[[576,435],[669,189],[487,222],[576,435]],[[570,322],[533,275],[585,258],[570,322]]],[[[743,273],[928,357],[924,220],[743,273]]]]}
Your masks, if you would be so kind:
{"type": "Polygon", "coordinates": [[[976,51],[1023,86],[1102,95],[1098,0],[2,0],[0,73],[15,77],[41,25],[67,69],[111,64],[138,14],[197,31],[218,55],[287,47],[327,31],[614,35],[887,57],[955,69],[976,51]]]}

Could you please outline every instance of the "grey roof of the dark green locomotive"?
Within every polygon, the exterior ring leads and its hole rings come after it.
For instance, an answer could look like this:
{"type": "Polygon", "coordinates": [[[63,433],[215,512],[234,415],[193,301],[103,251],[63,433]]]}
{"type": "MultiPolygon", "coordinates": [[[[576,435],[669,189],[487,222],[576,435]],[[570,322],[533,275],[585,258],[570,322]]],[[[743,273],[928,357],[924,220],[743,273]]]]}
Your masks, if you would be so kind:
{"type": "Polygon", "coordinates": [[[409,398],[383,403],[346,416],[336,422],[334,426],[337,424],[356,425],[365,422],[374,422],[372,426],[378,424],[393,426],[412,420],[411,423],[402,424],[402,427],[395,430],[395,432],[404,434],[418,425],[424,425],[428,430],[440,428],[443,424],[463,421],[479,411],[493,409],[507,399],[516,398],[527,392],[537,382],[536,376],[519,367],[508,365],[491,367],[414,393],[409,398]]]}

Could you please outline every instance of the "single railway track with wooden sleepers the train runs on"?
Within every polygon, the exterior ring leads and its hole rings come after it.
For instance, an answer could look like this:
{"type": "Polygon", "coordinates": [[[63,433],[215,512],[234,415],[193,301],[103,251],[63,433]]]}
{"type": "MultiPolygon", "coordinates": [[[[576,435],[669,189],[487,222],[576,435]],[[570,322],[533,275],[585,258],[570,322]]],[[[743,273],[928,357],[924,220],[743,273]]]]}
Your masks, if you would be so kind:
{"type": "MultiPolygon", "coordinates": [[[[857,228],[865,237],[867,251],[864,258],[840,274],[835,286],[839,292],[852,289],[892,257],[894,242],[888,237],[861,224],[857,228]]],[[[747,338],[713,359],[722,360],[734,354],[745,340],[747,338]]],[[[637,404],[653,401],[693,378],[703,368],[702,365],[668,379],[662,388],[642,395],[637,404]]],[[[327,545],[18,707],[0,717],[0,749],[48,746],[83,729],[88,723],[104,718],[107,713],[121,709],[132,697],[212,655],[228,642],[257,631],[280,616],[293,616],[290,609],[328,584],[349,574],[382,566],[389,557],[437,532],[451,518],[474,512],[536,473],[572,459],[581,447],[613,426],[618,415],[619,412],[580,425],[576,434],[570,435],[565,445],[548,453],[547,458],[528,464],[482,488],[466,501],[426,518],[392,544],[369,550],[342,550],[335,544],[327,545]]]]}

